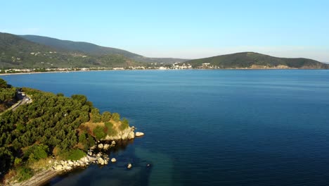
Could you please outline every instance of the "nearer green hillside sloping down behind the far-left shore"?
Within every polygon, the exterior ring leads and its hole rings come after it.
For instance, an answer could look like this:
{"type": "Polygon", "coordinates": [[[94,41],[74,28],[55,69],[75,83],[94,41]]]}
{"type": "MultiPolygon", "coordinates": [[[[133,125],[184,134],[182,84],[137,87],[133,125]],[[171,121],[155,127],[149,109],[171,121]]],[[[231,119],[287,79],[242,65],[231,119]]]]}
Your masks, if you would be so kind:
{"type": "Polygon", "coordinates": [[[91,55],[56,49],[0,32],[0,68],[84,68],[142,66],[121,54],[91,55]]]}

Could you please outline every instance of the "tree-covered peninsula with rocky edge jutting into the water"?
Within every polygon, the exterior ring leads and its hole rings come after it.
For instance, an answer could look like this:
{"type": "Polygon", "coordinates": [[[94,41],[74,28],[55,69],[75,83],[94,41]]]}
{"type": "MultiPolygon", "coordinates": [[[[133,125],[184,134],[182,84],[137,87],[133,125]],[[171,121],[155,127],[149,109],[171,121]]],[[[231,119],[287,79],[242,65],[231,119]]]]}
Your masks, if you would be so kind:
{"type": "MultiPolygon", "coordinates": [[[[84,95],[65,97],[61,93],[15,88],[0,79],[0,106],[0,178],[7,184],[28,180],[51,168],[61,170],[63,166],[65,170],[64,164],[71,169],[86,166],[89,161],[100,163],[99,156],[92,152],[97,144],[105,149],[100,144],[104,140],[135,136],[127,119],[121,119],[119,113],[100,113],[84,95]],[[8,103],[20,101],[18,94],[22,92],[31,100],[9,109],[8,103]]],[[[108,147],[114,144],[112,141],[108,147]]]]}

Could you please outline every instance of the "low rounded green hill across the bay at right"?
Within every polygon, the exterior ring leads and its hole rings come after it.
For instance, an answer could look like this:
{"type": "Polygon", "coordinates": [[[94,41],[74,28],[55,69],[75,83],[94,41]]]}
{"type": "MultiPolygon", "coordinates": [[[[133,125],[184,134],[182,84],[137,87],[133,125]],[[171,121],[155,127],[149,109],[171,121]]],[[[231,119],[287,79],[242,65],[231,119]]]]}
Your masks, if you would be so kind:
{"type": "Polygon", "coordinates": [[[200,58],[186,63],[190,63],[194,68],[202,67],[202,63],[218,68],[329,68],[328,64],[309,58],[277,58],[254,52],[200,58]]]}

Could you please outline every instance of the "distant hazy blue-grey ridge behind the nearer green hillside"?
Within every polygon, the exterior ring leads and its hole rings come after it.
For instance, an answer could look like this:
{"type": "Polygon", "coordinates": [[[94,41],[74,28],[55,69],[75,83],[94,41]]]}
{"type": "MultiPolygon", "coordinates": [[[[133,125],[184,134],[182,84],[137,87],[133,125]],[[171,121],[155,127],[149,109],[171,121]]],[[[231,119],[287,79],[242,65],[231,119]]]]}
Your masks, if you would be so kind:
{"type": "Polygon", "coordinates": [[[98,46],[88,42],[72,42],[68,40],[61,40],[51,37],[43,37],[38,35],[20,35],[20,37],[29,40],[30,42],[36,42],[46,46],[51,46],[54,49],[71,52],[82,52],[84,54],[103,56],[109,54],[119,54],[124,57],[130,58],[134,61],[141,61],[146,63],[181,63],[187,61],[183,58],[148,58],[138,54],[131,53],[122,49],[115,49],[111,47],[98,46]]]}

